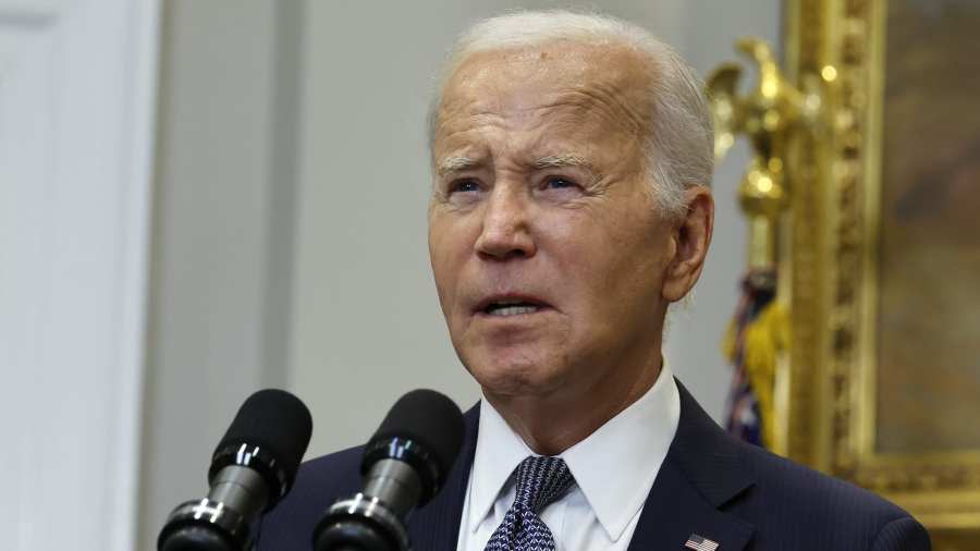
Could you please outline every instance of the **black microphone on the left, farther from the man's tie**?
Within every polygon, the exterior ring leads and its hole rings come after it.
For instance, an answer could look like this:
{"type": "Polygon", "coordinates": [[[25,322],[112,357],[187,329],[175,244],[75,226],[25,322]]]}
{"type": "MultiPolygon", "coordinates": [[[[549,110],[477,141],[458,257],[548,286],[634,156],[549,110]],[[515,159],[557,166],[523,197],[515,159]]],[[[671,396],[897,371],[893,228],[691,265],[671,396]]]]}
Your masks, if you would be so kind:
{"type": "Polygon", "coordinates": [[[256,524],[293,487],[311,433],[296,396],[272,389],[248,396],[211,456],[211,491],[173,510],[157,550],[254,549],[256,524]]]}

